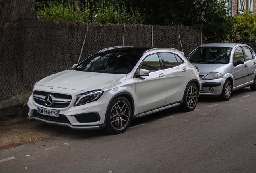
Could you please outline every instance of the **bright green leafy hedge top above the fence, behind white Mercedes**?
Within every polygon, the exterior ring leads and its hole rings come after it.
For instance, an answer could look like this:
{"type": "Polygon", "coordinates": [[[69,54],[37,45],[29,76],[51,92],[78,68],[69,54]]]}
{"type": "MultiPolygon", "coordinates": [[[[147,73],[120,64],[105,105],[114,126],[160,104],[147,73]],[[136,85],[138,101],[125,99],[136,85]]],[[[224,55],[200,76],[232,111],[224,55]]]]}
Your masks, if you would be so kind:
{"type": "Polygon", "coordinates": [[[76,9],[72,0],[61,4],[54,2],[37,3],[38,18],[55,20],[80,21],[101,24],[142,24],[143,19],[137,11],[130,9],[128,12],[125,6],[118,3],[111,4],[100,0],[98,2],[85,1],[83,8],[76,9]]]}

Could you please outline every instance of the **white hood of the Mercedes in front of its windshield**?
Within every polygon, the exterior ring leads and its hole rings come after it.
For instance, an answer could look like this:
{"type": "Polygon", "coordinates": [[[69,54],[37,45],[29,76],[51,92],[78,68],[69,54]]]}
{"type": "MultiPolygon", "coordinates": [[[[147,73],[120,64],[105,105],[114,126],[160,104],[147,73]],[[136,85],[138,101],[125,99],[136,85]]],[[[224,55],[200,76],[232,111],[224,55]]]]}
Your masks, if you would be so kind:
{"type": "Polygon", "coordinates": [[[43,78],[37,82],[37,85],[91,91],[95,89],[103,89],[124,82],[125,80],[126,74],[65,70],[43,78]]]}

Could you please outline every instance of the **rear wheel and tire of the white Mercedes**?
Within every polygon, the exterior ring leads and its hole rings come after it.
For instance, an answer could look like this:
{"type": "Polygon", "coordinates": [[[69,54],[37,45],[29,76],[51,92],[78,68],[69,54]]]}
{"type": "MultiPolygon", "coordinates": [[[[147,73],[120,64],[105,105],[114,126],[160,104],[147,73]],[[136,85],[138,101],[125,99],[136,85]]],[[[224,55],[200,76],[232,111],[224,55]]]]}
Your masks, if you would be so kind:
{"type": "Polygon", "coordinates": [[[196,84],[190,83],[185,89],[183,104],[181,105],[182,110],[189,112],[193,111],[198,101],[198,89],[196,84]]]}

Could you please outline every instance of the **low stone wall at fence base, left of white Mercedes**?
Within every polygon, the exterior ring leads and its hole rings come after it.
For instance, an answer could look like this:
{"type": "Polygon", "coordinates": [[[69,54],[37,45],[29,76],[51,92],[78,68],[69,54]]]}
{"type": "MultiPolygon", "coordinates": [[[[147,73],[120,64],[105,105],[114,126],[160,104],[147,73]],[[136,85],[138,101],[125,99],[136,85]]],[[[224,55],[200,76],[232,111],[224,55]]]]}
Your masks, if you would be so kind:
{"type": "Polygon", "coordinates": [[[31,93],[12,96],[0,101],[0,125],[28,121],[27,101],[31,93]]]}

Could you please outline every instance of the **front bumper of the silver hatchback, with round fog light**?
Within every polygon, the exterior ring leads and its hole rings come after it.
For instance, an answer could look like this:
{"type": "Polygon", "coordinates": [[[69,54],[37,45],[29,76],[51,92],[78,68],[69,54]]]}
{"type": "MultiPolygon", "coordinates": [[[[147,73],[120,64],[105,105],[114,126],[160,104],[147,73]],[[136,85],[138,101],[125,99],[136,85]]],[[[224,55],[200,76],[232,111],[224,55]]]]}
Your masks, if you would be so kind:
{"type": "Polygon", "coordinates": [[[222,93],[223,85],[225,83],[225,78],[212,79],[212,80],[201,80],[201,91],[202,96],[220,96],[222,93]],[[213,91],[211,91],[213,89],[213,91]]]}

